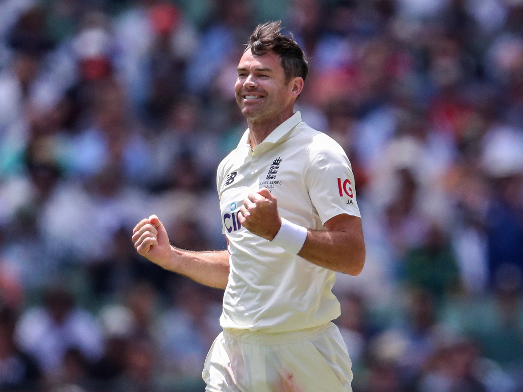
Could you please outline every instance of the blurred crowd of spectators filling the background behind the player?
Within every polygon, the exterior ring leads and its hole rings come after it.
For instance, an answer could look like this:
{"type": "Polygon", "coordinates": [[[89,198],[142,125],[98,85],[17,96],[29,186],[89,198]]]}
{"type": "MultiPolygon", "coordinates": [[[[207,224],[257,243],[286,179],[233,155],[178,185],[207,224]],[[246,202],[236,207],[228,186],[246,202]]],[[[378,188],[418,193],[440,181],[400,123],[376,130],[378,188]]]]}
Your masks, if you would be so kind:
{"type": "Polygon", "coordinates": [[[310,59],[297,110],[356,177],[354,391],[523,391],[521,0],[2,0],[0,390],[203,391],[222,293],[130,233],[155,213],[224,249],[235,68],[274,19],[310,59]]]}

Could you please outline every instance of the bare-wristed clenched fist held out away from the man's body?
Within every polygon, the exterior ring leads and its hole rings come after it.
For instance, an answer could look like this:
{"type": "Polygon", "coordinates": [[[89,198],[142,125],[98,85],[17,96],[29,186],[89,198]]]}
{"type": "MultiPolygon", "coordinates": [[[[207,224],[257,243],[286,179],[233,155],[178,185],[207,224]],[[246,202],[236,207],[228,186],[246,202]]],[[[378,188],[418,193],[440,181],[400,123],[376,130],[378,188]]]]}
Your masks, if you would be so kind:
{"type": "Polygon", "coordinates": [[[169,237],[156,215],[142,219],[132,230],[134,247],[148,260],[165,268],[171,253],[169,237]]]}

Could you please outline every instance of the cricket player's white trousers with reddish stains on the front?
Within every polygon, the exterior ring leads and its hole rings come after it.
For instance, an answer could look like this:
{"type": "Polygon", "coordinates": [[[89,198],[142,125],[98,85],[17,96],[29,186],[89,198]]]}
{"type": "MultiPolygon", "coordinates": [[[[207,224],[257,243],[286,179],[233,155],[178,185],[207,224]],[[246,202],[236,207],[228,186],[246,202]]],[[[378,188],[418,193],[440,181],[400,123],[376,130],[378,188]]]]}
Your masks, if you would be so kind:
{"type": "Polygon", "coordinates": [[[208,392],[351,392],[347,347],[332,322],[285,333],[225,329],[202,377],[208,392]]]}

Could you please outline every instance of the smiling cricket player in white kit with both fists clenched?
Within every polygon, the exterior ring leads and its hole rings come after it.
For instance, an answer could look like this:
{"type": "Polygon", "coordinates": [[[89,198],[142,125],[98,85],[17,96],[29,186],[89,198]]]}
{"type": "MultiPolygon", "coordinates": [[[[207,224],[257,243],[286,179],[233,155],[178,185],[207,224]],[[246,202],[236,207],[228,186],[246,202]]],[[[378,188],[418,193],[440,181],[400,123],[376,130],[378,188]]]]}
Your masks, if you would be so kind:
{"type": "Polygon", "coordinates": [[[206,390],[350,391],[350,359],[331,322],[340,314],[334,271],[357,275],[365,261],[349,160],[293,113],[308,64],[280,22],[256,28],[237,70],[249,128],[218,167],[228,250],[176,249],[155,215],[134,228],[134,245],[165,269],[225,289],[206,390]]]}

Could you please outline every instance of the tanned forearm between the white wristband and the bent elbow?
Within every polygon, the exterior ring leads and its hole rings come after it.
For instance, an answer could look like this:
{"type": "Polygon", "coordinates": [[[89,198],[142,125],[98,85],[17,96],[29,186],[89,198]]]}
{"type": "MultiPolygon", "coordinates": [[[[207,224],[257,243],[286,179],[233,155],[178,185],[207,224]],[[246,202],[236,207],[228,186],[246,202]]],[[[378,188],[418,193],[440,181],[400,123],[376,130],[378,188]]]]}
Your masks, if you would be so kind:
{"type": "Polygon", "coordinates": [[[308,230],[298,256],[349,275],[358,275],[365,263],[365,243],[360,233],[308,230]]]}

